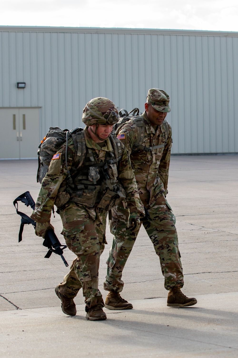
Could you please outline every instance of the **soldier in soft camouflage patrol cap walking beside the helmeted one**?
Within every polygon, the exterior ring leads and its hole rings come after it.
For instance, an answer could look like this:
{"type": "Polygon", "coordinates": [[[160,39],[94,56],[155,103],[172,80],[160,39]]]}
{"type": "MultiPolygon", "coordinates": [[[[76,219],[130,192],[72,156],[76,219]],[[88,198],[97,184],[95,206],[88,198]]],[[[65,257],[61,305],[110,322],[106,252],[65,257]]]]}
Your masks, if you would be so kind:
{"type": "MultiPolygon", "coordinates": [[[[146,211],[142,223],[159,256],[164,287],[169,291],[167,306],[184,307],[196,304],[197,300],[186,297],[181,292],[183,270],[178,250],[176,219],[166,200],[172,134],[165,117],[170,111],[168,94],[162,89],[151,88],[145,112],[126,122],[117,138],[130,153],[138,191],[146,211]]],[[[139,228],[133,231],[125,229],[129,216],[125,206],[121,203],[116,205],[112,209],[110,221],[114,238],[104,282],[104,289],[109,291],[105,300],[105,307],[108,309],[132,308],[131,303],[122,299],[120,292],[124,285],[122,270],[139,228]]]]}

